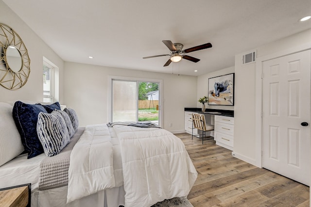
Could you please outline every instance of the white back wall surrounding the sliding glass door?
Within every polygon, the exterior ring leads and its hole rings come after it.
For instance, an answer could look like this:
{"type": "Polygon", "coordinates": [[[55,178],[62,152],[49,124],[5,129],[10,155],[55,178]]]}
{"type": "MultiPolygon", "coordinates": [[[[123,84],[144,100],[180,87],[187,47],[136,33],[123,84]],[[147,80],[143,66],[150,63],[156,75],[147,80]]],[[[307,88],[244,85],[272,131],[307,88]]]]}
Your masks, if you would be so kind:
{"type": "Polygon", "coordinates": [[[65,68],[64,103],[77,112],[80,126],[108,122],[109,75],[163,80],[163,128],[169,131],[183,131],[184,108],[196,107],[197,77],[194,76],[68,62],[65,68]]]}

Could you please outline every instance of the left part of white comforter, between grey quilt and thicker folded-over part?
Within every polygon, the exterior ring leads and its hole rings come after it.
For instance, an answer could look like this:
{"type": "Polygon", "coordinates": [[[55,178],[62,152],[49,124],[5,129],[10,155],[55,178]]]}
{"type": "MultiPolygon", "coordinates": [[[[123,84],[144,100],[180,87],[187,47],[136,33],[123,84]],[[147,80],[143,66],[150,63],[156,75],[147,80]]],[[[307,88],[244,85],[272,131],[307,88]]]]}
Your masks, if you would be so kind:
{"type": "Polygon", "coordinates": [[[70,154],[67,203],[115,187],[113,147],[106,125],[87,126],[70,154]]]}

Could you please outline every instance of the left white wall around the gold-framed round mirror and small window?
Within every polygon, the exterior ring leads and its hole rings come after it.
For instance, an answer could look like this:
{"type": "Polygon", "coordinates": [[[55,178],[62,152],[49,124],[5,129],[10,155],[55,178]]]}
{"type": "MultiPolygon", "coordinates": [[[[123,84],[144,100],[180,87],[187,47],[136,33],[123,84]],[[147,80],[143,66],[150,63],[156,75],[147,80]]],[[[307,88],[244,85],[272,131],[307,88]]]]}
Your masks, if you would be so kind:
{"type": "Polygon", "coordinates": [[[30,75],[26,84],[17,90],[8,90],[0,85],[0,101],[43,100],[43,56],[59,67],[59,101],[63,101],[63,60],[48,47],[2,0],[0,0],[0,23],[15,30],[23,40],[30,57],[30,75]]]}

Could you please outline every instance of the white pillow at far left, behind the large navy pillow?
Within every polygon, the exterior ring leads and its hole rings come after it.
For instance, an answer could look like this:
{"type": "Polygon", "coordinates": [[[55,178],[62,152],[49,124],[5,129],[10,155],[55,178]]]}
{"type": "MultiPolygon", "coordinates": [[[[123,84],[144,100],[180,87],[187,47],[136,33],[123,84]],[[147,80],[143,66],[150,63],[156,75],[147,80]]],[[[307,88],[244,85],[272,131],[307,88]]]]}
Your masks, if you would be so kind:
{"type": "Polygon", "coordinates": [[[12,110],[13,106],[0,102],[0,166],[24,151],[12,110]]]}

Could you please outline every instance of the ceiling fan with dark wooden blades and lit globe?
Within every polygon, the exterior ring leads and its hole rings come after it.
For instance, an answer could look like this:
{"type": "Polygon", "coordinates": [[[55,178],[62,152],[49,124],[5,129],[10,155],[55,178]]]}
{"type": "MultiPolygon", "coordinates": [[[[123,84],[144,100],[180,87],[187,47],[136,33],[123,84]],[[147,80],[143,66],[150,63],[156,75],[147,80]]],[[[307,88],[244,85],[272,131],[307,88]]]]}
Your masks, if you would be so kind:
{"type": "Polygon", "coordinates": [[[197,63],[200,61],[200,59],[191,57],[191,56],[186,55],[186,54],[189,52],[194,52],[197,50],[207,49],[207,48],[212,47],[212,44],[206,43],[203,45],[199,45],[199,46],[195,46],[195,47],[183,50],[183,47],[184,47],[183,44],[180,44],[180,43],[174,43],[173,44],[171,40],[162,40],[162,42],[164,43],[164,45],[166,45],[166,47],[168,47],[171,50],[171,52],[170,52],[171,54],[148,56],[148,57],[143,57],[143,59],[155,58],[155,57],[161,57],[161,56],[170,56],[170,59],[163,66],[168,66],[172,62],[175,62],[175,63],[179,62],[179,61],[181,61],[181,59],[186,59],[186,60],[192,61],[194,63],[197,63]]]}

